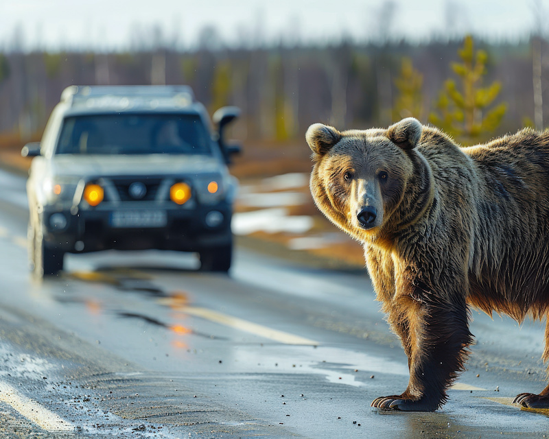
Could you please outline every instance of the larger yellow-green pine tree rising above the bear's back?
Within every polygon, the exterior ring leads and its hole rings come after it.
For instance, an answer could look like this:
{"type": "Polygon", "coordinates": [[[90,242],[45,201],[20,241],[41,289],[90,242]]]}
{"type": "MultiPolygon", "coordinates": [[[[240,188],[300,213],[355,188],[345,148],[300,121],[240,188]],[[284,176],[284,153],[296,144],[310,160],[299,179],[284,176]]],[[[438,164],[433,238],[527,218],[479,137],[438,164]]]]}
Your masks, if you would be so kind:
{"type": "Polygon", "coordinates": [[[502,103],[489,109],[500,93],[501,83],[481,86],[488,55],[483,50],[474,50],[473,37],[465,37],[458,55],[462,62],[452,63],[452,70],[460,77],[461,90],[456,81],[447,80],[436,102],[438,113],[432,112],[429,121],[456,139],[472,143],[498,127],[507,105],[502,103]]]}

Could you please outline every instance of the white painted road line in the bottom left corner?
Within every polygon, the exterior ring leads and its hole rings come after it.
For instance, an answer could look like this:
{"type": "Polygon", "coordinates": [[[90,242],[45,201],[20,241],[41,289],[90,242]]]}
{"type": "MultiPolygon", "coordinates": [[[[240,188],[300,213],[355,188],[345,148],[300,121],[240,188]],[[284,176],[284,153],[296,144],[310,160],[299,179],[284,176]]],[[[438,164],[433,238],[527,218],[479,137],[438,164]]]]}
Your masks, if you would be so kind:
{"type": "Polygon", "coordinates": [[[54,412],[23,396],[8,383],[0,381],[0,401],[11,405],[14,410],[46,431],[73,431],[74,425],[54,412]]]}

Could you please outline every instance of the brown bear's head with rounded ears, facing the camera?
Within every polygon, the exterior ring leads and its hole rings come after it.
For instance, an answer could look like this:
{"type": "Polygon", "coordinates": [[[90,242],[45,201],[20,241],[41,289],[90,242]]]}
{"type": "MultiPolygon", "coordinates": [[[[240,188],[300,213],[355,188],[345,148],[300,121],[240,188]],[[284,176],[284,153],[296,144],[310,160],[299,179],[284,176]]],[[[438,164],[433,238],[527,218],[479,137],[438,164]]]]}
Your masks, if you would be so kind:
{"type": "Polygon", "coordinates": [[[379,235],[414,177],[412,150],[423,127],[404,119],[386,130],[349,130],[315,123],[305,134],[314,169],[314,201],[332,222],[362,241],[379,235]]]}

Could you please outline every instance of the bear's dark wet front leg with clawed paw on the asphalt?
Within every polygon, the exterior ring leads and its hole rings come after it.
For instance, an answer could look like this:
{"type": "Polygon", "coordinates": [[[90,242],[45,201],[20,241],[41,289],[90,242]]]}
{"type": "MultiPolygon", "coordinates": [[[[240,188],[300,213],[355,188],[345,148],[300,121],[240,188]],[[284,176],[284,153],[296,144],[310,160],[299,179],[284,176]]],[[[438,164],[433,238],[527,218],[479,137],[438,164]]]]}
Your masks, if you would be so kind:
{"type": "Polygon", "coordinates": [[[410,381],[402,394],[382,396],[371,405],[383,410],[433,412],[447,400],[446,390],[463,370],[472,341],[465,298],[447,300],[425,296],[423,291],[421,299],[408,296],[395,305],[395,309],[406,310],[393,313],[389,320],[408,355],[410,381]]]}

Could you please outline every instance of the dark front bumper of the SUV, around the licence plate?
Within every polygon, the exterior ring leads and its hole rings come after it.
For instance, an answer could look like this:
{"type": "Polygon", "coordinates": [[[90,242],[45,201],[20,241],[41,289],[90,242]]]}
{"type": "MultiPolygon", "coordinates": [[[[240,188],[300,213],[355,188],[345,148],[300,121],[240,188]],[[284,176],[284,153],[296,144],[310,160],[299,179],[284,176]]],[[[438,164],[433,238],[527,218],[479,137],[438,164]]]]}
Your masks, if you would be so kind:
{"type": "Polygon", "coordinates": [[[197,252],[226,246],[232,241],[232,205],[226,201],[190,206],[176,206],[171,202],[109,204],[86,209],[45,206],[40,215],[45,246],[73,253],[110,249],[197,252]],[[163,224],[154,224],[153,221],[153,224],[139,225],[137,221],[128,226],[113,220],[113,214],[122,213],[124,216],[125,211],[132,214],[161,213],[152,216],[162,217],[163,224]]]}

